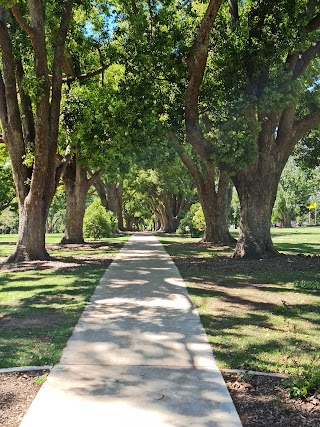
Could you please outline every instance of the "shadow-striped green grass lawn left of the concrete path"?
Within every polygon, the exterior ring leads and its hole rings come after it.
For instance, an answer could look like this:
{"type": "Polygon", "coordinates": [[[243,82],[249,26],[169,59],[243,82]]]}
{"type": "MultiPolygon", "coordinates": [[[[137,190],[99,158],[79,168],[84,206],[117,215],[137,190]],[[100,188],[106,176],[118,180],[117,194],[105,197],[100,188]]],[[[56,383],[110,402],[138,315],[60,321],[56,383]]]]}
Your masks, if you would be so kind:
{"type": "MultiPolygon", "coordinates": [[[[8,256],[10,237],[0,236],[8,256]]],[[[48,237],[50,262],[0,266],[0,368],[57,363],[100,278],[129,235],[60,246],[48,237]]]]}

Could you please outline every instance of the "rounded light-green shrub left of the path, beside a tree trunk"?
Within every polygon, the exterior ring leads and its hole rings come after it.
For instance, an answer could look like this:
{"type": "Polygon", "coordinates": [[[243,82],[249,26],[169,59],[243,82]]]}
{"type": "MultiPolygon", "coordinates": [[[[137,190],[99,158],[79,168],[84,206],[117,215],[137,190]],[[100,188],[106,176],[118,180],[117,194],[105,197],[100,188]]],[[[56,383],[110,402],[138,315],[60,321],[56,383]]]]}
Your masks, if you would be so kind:
{"type": "Polygon", "coordinates": [[[99,199],[95,199],[87,208],[84,215],[83,231],[85,237],[95,240],[110,237],[117,231],[117,221],[114,214],[101,205],[99,199]]]}

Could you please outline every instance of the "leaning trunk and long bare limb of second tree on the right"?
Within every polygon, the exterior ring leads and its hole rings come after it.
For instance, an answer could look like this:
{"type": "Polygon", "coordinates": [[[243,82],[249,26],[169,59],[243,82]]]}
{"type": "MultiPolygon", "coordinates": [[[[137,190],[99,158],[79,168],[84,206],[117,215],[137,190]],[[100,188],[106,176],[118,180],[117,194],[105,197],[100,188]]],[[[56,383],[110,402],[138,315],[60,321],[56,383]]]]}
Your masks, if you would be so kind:
{"type": "MultiPolygon", "coordinates": [[[[203,130],[203,123],[206,125],[206,117],[204,116],[201,121],[199,112],[200,89],[207,65],[211,31],[221,3],[220,0],[209,2],[186,59],[189,71],[184,103],[186,139],[202,160],[203,172],[185,151],[181,153],[181,158],[197,184],[199,200],[206,221],[204,240],[231,244],[234,239],[227,224],[230,178],[226,171],[219,168],[217,162],[214,161],[210,138],[206,137],[203,130]]],[[[234,9],[232,10],[234,13],[234,9]]]]}

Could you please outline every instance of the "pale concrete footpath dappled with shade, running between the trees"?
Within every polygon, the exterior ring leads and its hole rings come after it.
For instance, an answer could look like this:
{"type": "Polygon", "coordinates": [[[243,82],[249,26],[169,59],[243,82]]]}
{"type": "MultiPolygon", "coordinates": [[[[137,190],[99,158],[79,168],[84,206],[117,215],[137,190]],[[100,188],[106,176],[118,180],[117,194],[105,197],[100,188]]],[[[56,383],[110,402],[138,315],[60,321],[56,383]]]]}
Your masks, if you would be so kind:
{"type": "Polygon", "coordinates": [[[185,284],[151,235],[106,271],[21,427],[240,427],[185,284]]]}

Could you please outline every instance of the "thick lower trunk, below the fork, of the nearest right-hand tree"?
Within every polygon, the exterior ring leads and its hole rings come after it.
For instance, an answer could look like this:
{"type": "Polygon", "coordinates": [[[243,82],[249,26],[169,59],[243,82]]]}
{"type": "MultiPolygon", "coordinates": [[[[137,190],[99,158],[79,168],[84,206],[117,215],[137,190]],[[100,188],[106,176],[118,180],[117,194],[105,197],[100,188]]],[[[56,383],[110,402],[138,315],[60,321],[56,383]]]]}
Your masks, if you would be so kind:
{"type": "Polygon", "coordinates": [[[234,257],[259,259],[278,254],[270,224],[280,173],[266,172],[238,173],[234,177],[240,200],[240,231],[234,257]]]}

